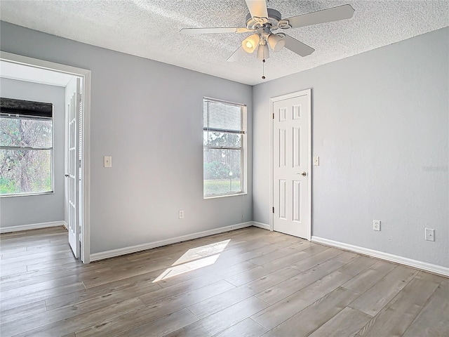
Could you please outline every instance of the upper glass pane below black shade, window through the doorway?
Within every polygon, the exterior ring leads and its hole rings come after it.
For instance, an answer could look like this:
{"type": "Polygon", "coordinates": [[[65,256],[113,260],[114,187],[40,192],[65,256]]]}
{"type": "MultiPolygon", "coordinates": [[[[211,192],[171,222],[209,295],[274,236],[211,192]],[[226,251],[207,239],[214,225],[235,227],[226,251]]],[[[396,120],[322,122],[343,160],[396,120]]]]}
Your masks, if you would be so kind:
{"type": "Polygon", "coordinates": [[[0,117],[0,146],[52,147],[52,119],[0,117]]]}

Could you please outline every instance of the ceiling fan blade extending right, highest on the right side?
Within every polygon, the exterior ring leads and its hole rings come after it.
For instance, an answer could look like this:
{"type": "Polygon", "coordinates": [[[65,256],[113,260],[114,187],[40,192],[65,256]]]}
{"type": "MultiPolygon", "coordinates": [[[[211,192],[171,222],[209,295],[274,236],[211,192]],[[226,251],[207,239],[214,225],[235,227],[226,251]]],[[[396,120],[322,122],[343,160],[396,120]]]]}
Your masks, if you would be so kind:
{"type": "Polygon", "coordinates": [[[352,18],[354,8],[351,5],[343,5],[333,8],[324,9],[314,13],[294,16],[285,19],[292,28],[316,25],[318,23],[332,22],[352,18]]]}

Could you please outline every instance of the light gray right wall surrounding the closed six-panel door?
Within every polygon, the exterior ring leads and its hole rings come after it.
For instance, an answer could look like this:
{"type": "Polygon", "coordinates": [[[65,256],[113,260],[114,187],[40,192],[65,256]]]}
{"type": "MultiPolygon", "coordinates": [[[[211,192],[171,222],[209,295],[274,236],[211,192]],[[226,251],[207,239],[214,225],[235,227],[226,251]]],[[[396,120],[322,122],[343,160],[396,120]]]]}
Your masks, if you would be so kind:
{"type": "Polygon", "coordinates": [[[269,98],[311,88],[313,235],[449,266],[448,41],[440,29],[255,86],[254,220],[269,223],[269,98]]]}

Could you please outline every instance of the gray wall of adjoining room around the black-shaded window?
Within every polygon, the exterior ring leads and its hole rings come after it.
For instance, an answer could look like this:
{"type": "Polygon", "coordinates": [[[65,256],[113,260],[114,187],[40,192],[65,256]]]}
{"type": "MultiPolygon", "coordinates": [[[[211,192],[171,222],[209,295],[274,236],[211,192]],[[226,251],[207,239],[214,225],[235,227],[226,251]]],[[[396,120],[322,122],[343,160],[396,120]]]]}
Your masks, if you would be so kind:
{"type": "Polygon", "coordinates": [[[65,90],[14,79],[0,79],[0,95],[54,105],[54,191],[53,194],[0,198],[0,227],[49,223],[64,220],[64,128],[65,90]]]}

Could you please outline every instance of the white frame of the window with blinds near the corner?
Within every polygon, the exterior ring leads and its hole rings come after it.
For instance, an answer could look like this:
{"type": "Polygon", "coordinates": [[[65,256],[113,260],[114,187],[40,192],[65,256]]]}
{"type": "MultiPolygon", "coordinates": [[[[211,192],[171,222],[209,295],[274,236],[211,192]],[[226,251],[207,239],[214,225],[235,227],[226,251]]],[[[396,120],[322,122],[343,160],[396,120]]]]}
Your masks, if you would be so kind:
{"type": "MultiPolygon", "coordinates": [[[[208,146],[208,145],[204,145],[204,140],[203,140],[203,199],[216,199],[216,198],[224,198],[224,197],[234,197],[234,196],[238,196],[238,195],[244,195],[247,194],[247,190],[248,190],[248,186],[247,186],[247,164],[248,164],[248,159],[247,159],[247,147],[248,147],[248,128],[247,128],[247,121],[248,121],[248,116],[247,116],[247,106],[246,104],[241,104],[241,103],[234,103],[234,102],[229,102],[227,100],[219,100],[217,98],[210,98],[210,97],[203,97],[203,109],[204,109],[204,103],[206,101],[212,101],[212,102],[217,102],[217,103],[222,103],[225,105],[233,105],[233,106],[238,106],[241,108],[241,128],[242,131],[239,133],[241,135],[241,140],[240,140],[240,147],[220,147],[220,146],[208,146]],[[222,194],[205,194],[204,193],[204,150],[206,149],[210,149],[210,150],[240,150],[240,191],[239,192],[227,192],[227,193],[222,193],[222,194]]],[[[204,110],[203,110],[203,115],[204,115],[204,110]]],[[[209,128],[205,128],[204,127],[204,119],[203,119],[203,132],[204,131],[208,131],[210,130],[209,128]]],[[[220,132],[227,132],[226,129],[222,129],[220,132]]],[[[229,132],[229,131],[228,131],[229,132]]],[[[230,133],[236,133],[235,131],[230,131],[230,133]]],[[[204,139],[204,137],[203,137],[204,139]]]]}

